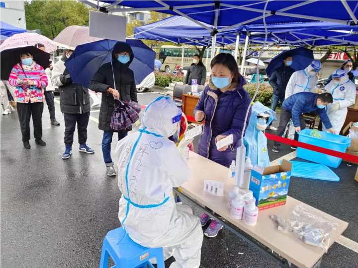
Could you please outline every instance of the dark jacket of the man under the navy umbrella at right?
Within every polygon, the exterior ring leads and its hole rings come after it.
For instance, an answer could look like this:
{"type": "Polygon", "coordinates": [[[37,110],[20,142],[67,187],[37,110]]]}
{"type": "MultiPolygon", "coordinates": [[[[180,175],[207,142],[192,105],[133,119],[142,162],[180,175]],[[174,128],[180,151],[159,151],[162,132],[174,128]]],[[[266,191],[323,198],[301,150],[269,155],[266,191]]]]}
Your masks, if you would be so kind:
{"type": "Polygon", "coordinates": [[[279,97],[284,97],[286,86],[294,69],[289,66],[282,66],[274,70],[269,78],[269,84],[273,88],[273,94],[279,97]]]}

